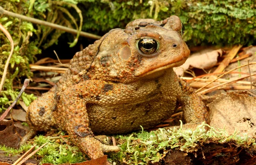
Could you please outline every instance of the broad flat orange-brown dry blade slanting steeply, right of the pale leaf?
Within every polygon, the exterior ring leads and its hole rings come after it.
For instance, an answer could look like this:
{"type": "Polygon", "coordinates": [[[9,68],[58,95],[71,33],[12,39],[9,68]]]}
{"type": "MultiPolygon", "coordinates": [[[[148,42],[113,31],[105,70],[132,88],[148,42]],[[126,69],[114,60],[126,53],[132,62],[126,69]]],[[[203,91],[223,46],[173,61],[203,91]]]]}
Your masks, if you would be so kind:
{"type": "Polygon", "coordinates": [[[221,62],[220,65],[218,65],[214,73],[224,71],[224,69],[227,67],[227,65],[229,65],[230,61],[233,60],[233,58],[236,56],[236,54],[238,53],[241,47],[242,45],[234,46],[229,52],[229,54],[227,55],[227,57],[221,62]]]}

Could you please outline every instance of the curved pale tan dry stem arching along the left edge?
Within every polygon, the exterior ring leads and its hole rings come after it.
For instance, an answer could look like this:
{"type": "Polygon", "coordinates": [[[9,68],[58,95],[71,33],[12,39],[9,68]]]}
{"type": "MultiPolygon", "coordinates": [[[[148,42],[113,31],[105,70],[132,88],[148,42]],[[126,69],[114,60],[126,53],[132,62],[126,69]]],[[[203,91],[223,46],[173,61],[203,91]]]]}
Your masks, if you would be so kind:
{"type": "Polygon", "coordinates": [[[1,83],[0,83],[0,92],[1,92],[2,88],[3,88],[3,83],[4,83],[5,78],[6,78],[7,68],[8,68],[10,59],[12,57],[12,53],[13,53],[13,49],[14,49],[14,43],[13,43],[11,34],[9,33],[9,31],[6,30],[6,28],[3,27],[3,25],[1,23],[0,23],[0,30],[3,31],[3,33],[6,35],[6,37],[8,38],[8,40],[11,43],[11,52],[9,54],[8,59],[6,60],[6,64],[5,64],[4,70],[3,70],[3,77],[2,77],[2,80],[1,80],[1,83]]]}

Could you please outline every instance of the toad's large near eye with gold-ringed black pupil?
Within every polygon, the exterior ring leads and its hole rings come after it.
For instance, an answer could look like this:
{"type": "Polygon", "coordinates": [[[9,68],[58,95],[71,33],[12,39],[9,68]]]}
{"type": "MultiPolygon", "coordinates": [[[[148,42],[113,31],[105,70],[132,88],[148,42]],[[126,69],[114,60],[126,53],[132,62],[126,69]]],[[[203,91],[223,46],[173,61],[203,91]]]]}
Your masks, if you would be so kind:
{"type": "Polygon", "coordinates": [[[143,38],[137,42],[137,48],[143,54],[153,54],[159,48],[159,43],[152,38],[143,38]]]}

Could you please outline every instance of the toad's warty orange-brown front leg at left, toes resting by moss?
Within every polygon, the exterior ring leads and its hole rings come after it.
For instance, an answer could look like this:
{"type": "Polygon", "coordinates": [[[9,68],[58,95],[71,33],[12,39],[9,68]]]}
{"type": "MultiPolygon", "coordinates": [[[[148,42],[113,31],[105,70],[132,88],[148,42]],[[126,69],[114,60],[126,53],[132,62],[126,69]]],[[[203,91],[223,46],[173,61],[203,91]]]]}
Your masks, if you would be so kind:
{"type": "Polygon", "coordinates": [[[119,147],[103,144],[89,128],[86,86],[88,84],[81,83],[64,91],[59,97],[58,110],[54,112],[54,116],[59,127],[67,131],[73,143],[91,159],[96,159],[102,157],[104,152],[119,151],[119,147]]]}

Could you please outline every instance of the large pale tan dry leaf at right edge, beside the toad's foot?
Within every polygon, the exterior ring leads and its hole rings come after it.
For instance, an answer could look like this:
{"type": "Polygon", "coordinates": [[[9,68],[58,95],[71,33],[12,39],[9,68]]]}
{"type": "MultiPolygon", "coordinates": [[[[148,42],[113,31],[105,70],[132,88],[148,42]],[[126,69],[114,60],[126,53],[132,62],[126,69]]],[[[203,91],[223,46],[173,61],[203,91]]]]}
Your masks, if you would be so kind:
{"type": "Polygon", "coordinates": [[[233,134],[235,130],[251,136],[256,134],[256,97],[253,95],[234,92],[221,94],[207,106],[211,126],[225,127],[228,134],[233,134]]]}

